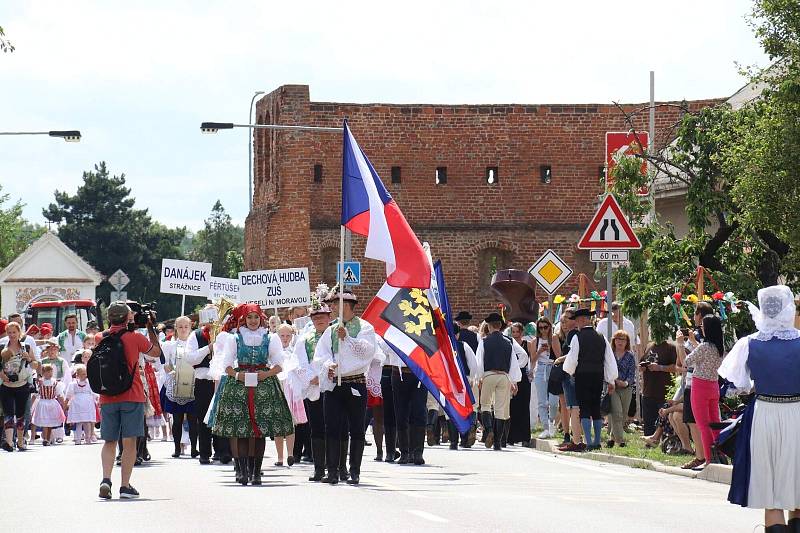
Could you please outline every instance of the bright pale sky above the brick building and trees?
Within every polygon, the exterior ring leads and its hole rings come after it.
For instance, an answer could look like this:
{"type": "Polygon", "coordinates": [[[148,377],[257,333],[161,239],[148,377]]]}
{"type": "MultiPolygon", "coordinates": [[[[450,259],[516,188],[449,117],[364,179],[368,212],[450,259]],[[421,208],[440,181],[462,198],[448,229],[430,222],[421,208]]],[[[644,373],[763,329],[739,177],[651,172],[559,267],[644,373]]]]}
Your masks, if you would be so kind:
{"type": "Polygon", "coordinates": [[[44,223],[106,161],[138,208],[201,229],[219,199],[248,211],[254,91],[312,101],[448,104],[727,97],[767,64],[749,0],[571,2],[25,1],[0,3],[0,131],[79,129],[80,143],[0,136],[3,193],[44,223]],[[665,6],[669,5],[669,8],[665,6]]]}

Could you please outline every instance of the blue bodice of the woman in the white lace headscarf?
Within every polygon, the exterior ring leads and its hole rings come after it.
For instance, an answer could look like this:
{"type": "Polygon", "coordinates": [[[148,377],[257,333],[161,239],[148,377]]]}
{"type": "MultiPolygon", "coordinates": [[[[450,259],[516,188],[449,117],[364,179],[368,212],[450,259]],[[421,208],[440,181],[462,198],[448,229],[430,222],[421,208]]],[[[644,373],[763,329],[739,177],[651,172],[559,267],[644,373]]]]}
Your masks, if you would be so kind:
{"type": "Polygon", "coordinates": [[[758,394],[800,394],[800,338],[768,341],[750,339],[747,366],[758,394]]]}

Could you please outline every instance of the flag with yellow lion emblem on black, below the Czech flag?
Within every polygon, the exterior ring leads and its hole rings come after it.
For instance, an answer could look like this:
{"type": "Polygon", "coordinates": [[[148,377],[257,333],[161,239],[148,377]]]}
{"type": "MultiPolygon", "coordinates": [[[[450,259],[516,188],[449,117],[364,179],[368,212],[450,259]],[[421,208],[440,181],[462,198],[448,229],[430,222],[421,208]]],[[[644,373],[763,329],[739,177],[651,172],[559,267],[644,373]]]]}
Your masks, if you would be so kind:
{"type": "Polygon", "coordinates": [[[450,319],[440,307],[442,296],[446,301],[444,285],[437,277],[429,281],[427,290],[385,283],[361,316],[436,398],[458,432],[466,433],[472,424],[472,390],[458,363],[450,319]]]}

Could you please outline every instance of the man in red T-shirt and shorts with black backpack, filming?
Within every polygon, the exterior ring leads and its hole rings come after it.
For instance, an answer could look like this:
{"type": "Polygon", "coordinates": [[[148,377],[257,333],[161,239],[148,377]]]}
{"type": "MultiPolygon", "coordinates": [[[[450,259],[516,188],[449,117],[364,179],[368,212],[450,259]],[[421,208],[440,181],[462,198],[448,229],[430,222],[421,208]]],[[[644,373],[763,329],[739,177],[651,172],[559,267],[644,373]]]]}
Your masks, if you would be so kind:
{"type": "Polygon", "coordinates": [[[100,497],[111,498],[111,470],[117,451],[117,441],[122,439],[122,479],[119,497],[138,498],[139,493],[130,484],[131,471],[136,461],[136,438],[144,436],[144,385],[139,373],[139,353],[149,357],[160,357],[161,347],[158,335],[153,328],[153,318],[147,317],[147,337],[131,331],[134,326],[133,312],[125,302],[114,302],[108,308],[110,327],[103,336],[120,333],[133,383],[131,387],[115,396],[100,395],[100,436],[105,441],[101,452],[103,481],[100,482],[100,497]]]}

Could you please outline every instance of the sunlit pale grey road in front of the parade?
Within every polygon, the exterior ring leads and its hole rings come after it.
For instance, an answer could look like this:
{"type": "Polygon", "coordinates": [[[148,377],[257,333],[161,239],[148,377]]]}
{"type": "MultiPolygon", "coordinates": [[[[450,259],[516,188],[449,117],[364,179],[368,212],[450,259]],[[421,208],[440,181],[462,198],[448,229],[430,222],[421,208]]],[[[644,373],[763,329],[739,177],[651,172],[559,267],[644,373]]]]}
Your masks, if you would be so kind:
{"type": "MultiPolygon", "coordinates": [[[[372,461],[361,486],[309,483],[309,465],[272,467],[264,486],[241,487],[230,466],[172,459],[134,470],[139,500],[97,499],[100,446],[65,443],[0,455],[0,486],[39,502],[66,531],[753,531],[761,513],[725,501],[728,487],[586,459],[509,448],[425,451],[423,467],[372,461]],[[10,483],[9,483],[10,481],[10,483]],[[44,503],[47,502],[47,503],[44,503]]],[[[266,465],[270,465],[267,467],[266,465]]],[[[9,500],[4,496],[4,501],[9,500]]],[[[13,505],[11,506],[14,507],[13,505]]],[[[32,509],[31,509],[32,511],[32,509]]],[[[22,524],[19,524],[22,526],[22,524]]],[[[17,529],[16,531],[20,531],[17,529]]],[[[6,530],[3,531],[13,531],[6,530]]]]}

